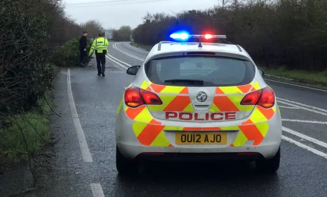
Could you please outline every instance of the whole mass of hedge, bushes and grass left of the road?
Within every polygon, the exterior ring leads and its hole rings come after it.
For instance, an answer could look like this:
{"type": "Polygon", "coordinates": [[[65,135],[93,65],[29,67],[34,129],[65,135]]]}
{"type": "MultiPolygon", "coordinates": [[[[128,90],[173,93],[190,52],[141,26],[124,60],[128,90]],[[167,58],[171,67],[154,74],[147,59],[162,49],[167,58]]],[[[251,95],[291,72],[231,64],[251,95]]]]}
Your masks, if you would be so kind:
{"type": "Polygon", "coordinates": [[[0,173],[49,142],[56,68],[77,66],[76,37],[100,28],[83,25],[65,16],[60,0],[1,2],[0,173]]]}

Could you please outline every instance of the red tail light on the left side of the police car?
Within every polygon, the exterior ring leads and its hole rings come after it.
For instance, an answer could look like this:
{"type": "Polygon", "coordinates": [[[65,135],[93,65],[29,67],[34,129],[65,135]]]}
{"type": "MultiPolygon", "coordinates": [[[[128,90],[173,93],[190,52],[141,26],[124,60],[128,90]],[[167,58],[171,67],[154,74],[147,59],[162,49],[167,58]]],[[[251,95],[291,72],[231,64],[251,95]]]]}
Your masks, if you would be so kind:
{"type": "Polygon", "coordinates": [[[153,92],[137,87],[129,87],[125,90],[125,104],[135,108],[144,104],[161,105],[162,101],[153,92]]]}

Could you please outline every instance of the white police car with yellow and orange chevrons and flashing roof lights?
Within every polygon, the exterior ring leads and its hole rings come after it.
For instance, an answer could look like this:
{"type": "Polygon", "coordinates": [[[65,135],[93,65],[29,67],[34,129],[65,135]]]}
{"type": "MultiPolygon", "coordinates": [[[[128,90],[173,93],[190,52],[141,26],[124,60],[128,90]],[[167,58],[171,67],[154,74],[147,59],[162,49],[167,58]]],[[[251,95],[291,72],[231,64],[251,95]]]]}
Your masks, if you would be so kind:
{"type": "Polygon", "coordinates": [[[224,35],[170,38],[127,69],[135,76],[116,112],[118,172],[137,172],[147,159],[222,159],[275,173],[282,119],[263,70],[240,45],[219,42],[224,35]]]}

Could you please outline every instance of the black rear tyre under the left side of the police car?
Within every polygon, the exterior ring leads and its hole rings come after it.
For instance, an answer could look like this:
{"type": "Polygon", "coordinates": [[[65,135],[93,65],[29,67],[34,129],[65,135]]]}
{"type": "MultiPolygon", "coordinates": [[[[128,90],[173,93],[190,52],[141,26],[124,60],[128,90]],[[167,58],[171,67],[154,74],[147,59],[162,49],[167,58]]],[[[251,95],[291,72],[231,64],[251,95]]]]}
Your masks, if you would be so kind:
{"type": "Polygon", "coordinates": [[[119,175],[133,175],[137,174],[138,166],[133,160],[126,159],[116,146],[116,169],[119,175]]]}

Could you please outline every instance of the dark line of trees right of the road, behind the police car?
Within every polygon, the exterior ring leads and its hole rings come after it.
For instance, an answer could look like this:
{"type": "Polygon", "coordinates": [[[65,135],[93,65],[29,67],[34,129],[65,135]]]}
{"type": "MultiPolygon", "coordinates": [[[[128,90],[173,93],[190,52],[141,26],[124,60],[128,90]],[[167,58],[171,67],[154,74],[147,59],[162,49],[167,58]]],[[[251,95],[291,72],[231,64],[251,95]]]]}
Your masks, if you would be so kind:
{"type": "MultiPolygon", "coordinates": [[[[133,31],[135,43],[154,45],[174,30],[226,35],[264,67],[327,71],[327,1],[223,1],[205,11],[150,14],[133,31]]],[[[327,74],[326,74],[327,75],[327,74]]]]}

